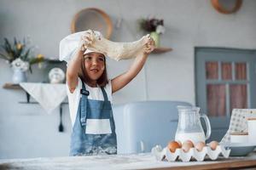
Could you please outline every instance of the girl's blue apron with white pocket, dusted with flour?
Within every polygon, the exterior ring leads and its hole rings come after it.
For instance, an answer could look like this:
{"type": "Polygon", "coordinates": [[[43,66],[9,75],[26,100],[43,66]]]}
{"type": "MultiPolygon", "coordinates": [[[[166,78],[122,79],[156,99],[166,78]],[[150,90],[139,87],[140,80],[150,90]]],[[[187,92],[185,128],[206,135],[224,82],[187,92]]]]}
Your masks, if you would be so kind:
{"type": "Polygon", "coordinates": [[[80,90],[82,98],[80,98],[76,120],[73,125],[70,156],[117,153],[112,107],[105,89],[101,89],[104,101],[88,99],[89,92],[86,90],[84,82],[82,82],[82,89],[80,90]],[[101,122],[104,123],[101,124],[101,122]],[[108,130],[101,133],[97,132],[94,129],[95,127],[102,128],[103,131],[104,127],[108,127],[108,130]]]}

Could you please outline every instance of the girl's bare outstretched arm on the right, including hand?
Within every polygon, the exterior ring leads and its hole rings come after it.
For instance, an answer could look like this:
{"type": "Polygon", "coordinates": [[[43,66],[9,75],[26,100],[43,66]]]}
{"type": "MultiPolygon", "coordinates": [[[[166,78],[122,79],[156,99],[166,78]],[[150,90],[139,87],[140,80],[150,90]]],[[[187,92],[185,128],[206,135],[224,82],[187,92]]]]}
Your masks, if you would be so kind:
{"type": "Polygon", "coordinates": [[[124,88],[126,84],[131,82],[131,80],[137,76],[139,71],[143,69],[143,65],[150,54],[154,50],[154,41],[151,39],[144,48],[143,54],[140,54],[134,59],[130,69],[125,73],[115,77],[111,80],[112,84],[112,93],[118,91],[121,88],[124,88]]]}

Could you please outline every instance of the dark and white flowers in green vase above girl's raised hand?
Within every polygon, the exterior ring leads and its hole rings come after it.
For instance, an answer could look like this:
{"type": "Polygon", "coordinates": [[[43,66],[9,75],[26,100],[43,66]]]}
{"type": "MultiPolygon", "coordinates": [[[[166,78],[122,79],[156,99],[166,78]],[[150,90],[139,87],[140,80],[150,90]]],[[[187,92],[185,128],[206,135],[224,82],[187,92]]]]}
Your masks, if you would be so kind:
{"type": "Polygon", "coordinates": [[[164,20],[148,18],[139,20],[139,27],[143,31],[156,31],[159,34],[165,32],[164,20]]]}

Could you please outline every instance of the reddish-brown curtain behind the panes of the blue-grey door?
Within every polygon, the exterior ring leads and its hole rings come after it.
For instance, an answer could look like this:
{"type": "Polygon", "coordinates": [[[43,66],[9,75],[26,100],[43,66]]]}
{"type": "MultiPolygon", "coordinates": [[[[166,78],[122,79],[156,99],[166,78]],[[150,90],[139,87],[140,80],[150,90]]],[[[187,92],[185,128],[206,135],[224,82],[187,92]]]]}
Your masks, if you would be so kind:
{"type": "MultiPolygon", "coordinates": [[[[226,85],[230,88],[230,111],[234,108],[247,108],[247,84],[232,82],[232,64],[224,62],[221,64],[221,81],[218,84],[207,84],[207,111],[209,116],[226,116],[226,85]],[[230,82],[231,81],[231,82],[230,82]]],[[[236,80],[247,80],[247,64],[235,64],[236,80]]],[[[206,63],[206,77],[209,80],[218,81],[218,62],[206,63]]]]}

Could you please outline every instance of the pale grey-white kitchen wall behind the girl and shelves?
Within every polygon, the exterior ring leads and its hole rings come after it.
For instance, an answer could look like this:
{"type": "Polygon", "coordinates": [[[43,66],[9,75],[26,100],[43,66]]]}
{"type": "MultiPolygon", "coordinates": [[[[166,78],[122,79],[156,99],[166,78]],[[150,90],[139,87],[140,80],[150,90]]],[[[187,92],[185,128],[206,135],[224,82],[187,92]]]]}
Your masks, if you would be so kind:
{"type": "MultiPolygon", "coordinates": [[[[207,0],[1,0],[0,40],[3,37],[32,37],[38,51],[58,57],[58,43],[70,33],[74,14],[82,8],[106,11],[114,27],[112,40],[135,41],[137,19],[148,15],[165,20],[161,44],[173,48],[166,54],[152,54],[141,73],[124,89],[113,94],[113,103],[138,100],[183,100],[195,104],[194,48],[256,48],[256,1],[244,0],[236,14],[219,14],[207,0]]],[[[2,41],[3,42],[3,41],[2,41]]],[[[109,77],[115,77],[132,60],[108,59],[109,77]]],[[[29,74],[30,82],[47,80],[47,71],[29,74]],[[40,76],[38,76],[40,75],[40,76]]],[[[0,60],[0,86],[11,82],[12,70],[0,60]]],[[[47,115],[39,105],[20,105],[24,92],[0,88],[0,158],[67,156],[71,131],[64,106],[65,133],[58,133],[58,111],[47,115]]]]}

